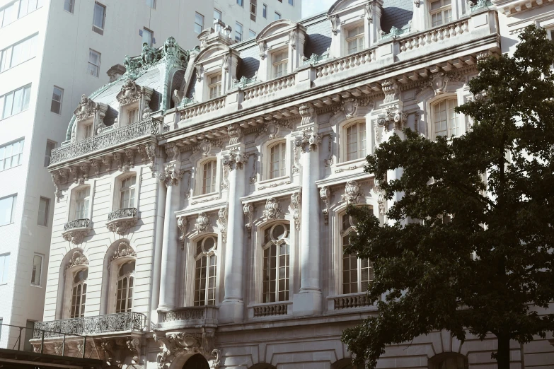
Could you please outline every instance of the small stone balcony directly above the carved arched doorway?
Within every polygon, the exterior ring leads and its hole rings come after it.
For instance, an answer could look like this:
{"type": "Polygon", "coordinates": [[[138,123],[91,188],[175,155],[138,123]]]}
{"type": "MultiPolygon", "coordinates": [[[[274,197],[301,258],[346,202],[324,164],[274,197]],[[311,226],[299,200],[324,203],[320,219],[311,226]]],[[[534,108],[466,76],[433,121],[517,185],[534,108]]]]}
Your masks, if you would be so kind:
{"type": "Polygon", "coordinates": [[[158,310],[158,329],[217,327],[217,306],[178,307],[158,310]]]}

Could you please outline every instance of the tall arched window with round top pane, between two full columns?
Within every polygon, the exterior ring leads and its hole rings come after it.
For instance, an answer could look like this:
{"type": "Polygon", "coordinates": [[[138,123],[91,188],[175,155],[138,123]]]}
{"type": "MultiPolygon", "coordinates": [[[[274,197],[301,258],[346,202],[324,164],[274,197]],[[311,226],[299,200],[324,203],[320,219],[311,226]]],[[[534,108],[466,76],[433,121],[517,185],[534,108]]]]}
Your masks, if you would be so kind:
{"type": "Polygon", "coordinates": [[[275,223],[264,231],[263,303],[289,300],[289,223],[275,223]]]}

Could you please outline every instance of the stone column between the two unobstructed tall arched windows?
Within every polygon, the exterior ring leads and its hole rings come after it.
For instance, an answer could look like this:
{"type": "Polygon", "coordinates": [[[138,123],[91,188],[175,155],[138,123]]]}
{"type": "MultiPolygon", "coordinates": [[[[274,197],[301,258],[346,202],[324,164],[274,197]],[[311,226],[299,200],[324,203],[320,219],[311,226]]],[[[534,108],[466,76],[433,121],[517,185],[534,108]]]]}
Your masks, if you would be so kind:
{"type": "Polygon", "coordinates": [[[229,168],[229,218],[227,221],[227,242],[225,245],[224,291],[225,296],[219,307],[218,320],[221,323],[242,322],[244,320],[243,299],[243,259],[244,224],[241,197],[246,188],[243,170],[248,157],[242,144],[242,129],[238,124],[229,126],[229,153],[224,156],[223,165],[229,168]]]}

